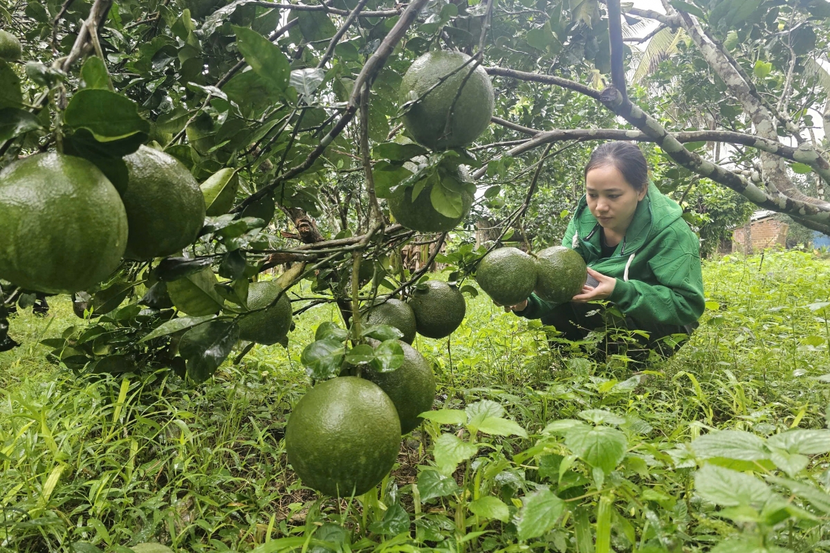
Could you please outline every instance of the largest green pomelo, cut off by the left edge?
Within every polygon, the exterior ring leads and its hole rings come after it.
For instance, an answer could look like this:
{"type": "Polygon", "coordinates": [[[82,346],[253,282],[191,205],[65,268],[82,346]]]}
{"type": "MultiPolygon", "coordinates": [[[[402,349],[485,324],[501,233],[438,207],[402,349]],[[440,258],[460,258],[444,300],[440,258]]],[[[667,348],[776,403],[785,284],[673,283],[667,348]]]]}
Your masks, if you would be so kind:
{"type": "Polygon", "coordinates": [[[0,171],[0,277],[26,290],[85,290],[126,245],[118,191],[86,159],[35,154],[0,171]]]}

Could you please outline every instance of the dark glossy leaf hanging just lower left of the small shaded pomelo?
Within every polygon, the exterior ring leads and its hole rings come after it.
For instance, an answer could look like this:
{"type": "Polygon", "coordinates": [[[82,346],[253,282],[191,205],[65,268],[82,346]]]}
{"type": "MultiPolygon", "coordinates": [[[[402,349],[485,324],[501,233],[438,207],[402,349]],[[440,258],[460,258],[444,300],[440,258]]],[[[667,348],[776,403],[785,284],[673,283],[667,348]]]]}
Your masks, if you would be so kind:
{"type": "Polygon", "coordinates": [[[188,377],[203,383],[216,372],[239,340],[239,327],[234,321],[209,321],[184,333],[178,344],[188,369],[188,377]]]}

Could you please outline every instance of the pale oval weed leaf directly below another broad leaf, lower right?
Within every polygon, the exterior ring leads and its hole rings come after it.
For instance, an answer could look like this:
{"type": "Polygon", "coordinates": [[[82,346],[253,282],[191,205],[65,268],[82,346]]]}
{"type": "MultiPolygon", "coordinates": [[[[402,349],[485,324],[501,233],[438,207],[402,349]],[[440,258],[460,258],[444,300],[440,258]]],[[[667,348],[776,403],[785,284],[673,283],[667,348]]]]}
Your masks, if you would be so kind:
{"type": "Polygon", "coordinates": [[[774,497],[758,478],[709,464],[695,473],[695,489],[706,501],[721,507],[762,507],[774,497]]]}

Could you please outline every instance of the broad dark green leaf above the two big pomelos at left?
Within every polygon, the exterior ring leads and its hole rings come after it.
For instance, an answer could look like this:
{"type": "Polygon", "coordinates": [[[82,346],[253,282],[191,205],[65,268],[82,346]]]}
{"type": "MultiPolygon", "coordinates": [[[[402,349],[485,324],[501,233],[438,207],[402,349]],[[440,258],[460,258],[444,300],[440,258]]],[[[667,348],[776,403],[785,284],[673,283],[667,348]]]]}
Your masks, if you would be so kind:
{"type": "Polygon", "coordinates": [[[77,91],[66,106],[64,120],[75,129],[90,130],[100,142],[150,131],[133,100],[99,89],[77,91]]]}

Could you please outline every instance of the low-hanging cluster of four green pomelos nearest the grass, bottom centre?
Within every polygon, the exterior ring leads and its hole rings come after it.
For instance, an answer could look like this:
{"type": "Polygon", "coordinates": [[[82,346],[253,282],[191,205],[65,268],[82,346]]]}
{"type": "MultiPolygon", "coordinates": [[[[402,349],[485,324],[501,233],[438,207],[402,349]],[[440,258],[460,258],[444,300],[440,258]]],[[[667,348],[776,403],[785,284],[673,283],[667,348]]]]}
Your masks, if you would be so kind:
{"type": "Polygon", "coordinates": [[[443,338],[466,313],[464,296],[443,281],[427,281],[410,301],[378,301],[364,314],[370,325],[403,333],[403,365],[388,373],[364,369],[317,384],[291,413],[286,452],[306,486],[330,496],[360,495],[392,469],[400,437],[432,409],[435,377],[410,344],[415,334],[443,338]]]}

